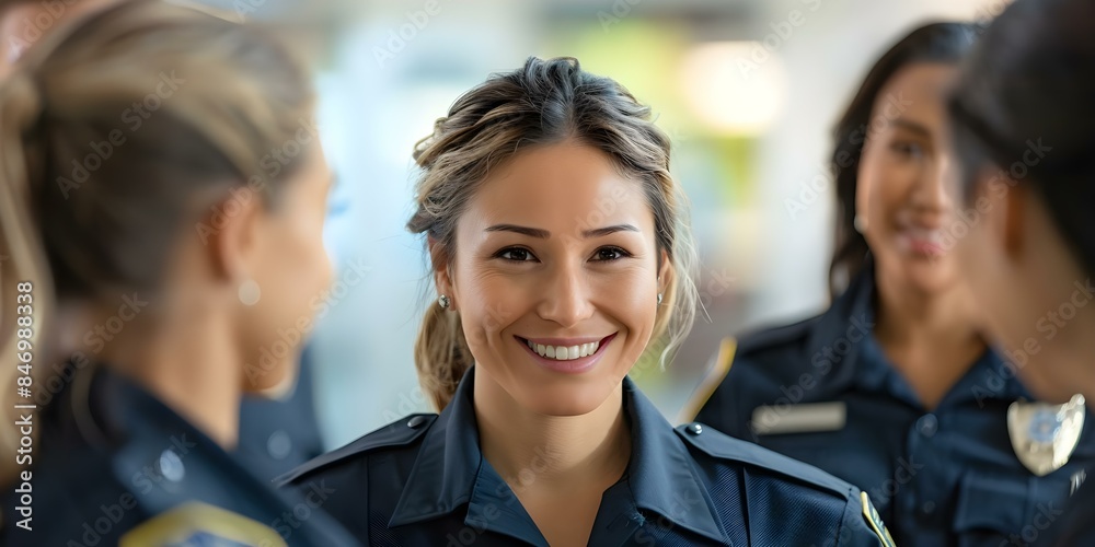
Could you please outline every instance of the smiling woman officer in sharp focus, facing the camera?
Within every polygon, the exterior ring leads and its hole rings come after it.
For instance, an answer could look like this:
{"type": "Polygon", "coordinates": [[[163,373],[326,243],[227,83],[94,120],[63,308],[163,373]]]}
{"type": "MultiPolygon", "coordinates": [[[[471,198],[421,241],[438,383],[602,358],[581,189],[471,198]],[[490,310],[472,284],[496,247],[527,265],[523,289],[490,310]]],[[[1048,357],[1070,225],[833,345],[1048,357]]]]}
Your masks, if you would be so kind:
{"type": "Polygon", "coordinates": [[[419,143],[440,293],[415,415],[285,477],[370,545],[883,545],[855,487],[699,423],[626,377],[694,313],[669,140],[619,84],[529,59],[419,143]],[[474,365],[473,365],[474,363],[474,365]]]}

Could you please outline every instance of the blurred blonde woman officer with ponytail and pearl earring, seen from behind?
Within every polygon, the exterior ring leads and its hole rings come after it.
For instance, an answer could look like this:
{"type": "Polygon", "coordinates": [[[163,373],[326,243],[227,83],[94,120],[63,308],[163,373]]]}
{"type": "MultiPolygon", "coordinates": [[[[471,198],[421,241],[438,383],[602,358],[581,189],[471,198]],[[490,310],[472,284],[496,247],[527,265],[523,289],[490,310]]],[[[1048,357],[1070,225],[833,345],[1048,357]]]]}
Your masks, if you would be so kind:
{"type": "Polygon", "coordinates": [[[299,348],[261,349],[330,279],[307,72],[166,2],[58,25],[0,84],[0,543],[354,545],[323,485],[286,496],[232,454],[243,394],[295,375],[299,348]]]}

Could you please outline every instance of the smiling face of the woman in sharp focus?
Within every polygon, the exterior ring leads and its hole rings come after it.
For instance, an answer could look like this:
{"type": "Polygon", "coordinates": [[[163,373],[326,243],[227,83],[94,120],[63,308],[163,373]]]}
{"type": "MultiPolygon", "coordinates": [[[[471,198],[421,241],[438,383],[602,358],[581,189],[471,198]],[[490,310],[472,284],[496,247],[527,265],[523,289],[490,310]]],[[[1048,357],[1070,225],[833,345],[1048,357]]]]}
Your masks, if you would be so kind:
{"type": "Polygon", "coordinates": [[[479,365],[481,404],[498,405],[497,416],[512,417],[502,407],[517,399],[575,416],[619,391],[658,316],[671,315],[657,303],[677,278],[656,223],[639,184],[575,140],[533,147],[487,176],[457,224],[461,251],[452,256],[442,234],[429,240],[447,313],[460,314],[479,365]],[[609,200],[606,225],[590,226],[609,200]]]}

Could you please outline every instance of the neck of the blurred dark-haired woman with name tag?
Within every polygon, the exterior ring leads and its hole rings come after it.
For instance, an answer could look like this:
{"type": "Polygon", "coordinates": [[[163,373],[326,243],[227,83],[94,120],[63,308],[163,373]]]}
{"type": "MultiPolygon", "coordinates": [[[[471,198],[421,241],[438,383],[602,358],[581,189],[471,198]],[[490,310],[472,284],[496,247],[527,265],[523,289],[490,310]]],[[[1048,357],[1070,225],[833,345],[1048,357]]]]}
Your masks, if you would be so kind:
{"type": "Polygon", "coordinates": [[[876,274],[875,337],[927,408],[934,408],[986,351],[972,299],[958,284],[910,290],[876,274]]]}

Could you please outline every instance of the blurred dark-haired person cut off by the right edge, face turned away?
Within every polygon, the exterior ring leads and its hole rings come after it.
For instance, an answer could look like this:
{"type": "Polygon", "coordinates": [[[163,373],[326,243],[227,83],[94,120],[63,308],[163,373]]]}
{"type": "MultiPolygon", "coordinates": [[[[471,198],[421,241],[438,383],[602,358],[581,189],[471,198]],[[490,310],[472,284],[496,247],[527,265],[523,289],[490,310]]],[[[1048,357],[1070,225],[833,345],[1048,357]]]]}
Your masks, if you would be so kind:
{"type": "MultiPolygon", "coordinates": [[[[984,33],[948,101],[961,163],[954,199],[980,218],[956,245],[977,303],[1034,391],[1049,400],[1079,391],[1088,407],[1095,404],[1095,306],[1087,305],[1095,298],[1092,97],[1095,4],[1018,0],[984,33]]],[[[1028,451],[1056,461],[1068,449],[1058,439],[1029,439],[1028,451]]],[[[1095,545],[1093,487],[1080,485],[1063,514],[1058,507],[1019,521],[1010,544],[1095,545]]]]}

